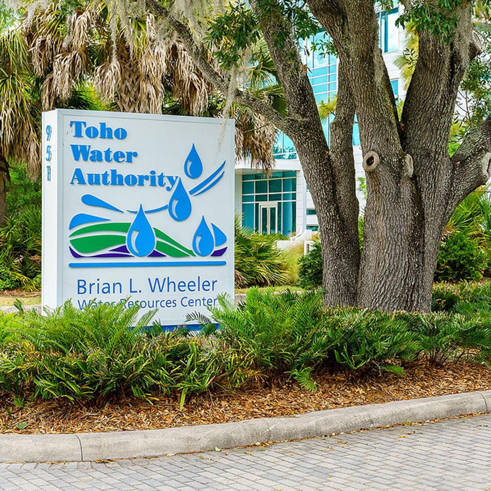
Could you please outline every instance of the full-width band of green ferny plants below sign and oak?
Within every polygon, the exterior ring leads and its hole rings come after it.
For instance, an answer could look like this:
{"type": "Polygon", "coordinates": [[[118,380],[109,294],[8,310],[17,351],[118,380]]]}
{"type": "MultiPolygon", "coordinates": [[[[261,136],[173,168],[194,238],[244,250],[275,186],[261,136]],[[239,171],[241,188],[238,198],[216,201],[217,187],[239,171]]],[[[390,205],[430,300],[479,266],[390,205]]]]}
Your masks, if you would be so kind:
{"type": "Polygon", "coordinates": [[[209,319],[194,316],[204,327],[196,336],[148,327],[152,313],[136,323],[137,306],[2,314],[0,388],[17,401],[169,396],[183,407],[192,396],[257,384],[295,381],[313,391],[326,371],[403,376],[414,363],[463,360],[487,367],[490,293],[489,283],[437,286],[436,312],[419,314],[326,309],[319,291],[250,289],[238,306],[220,297],[209,319]]]}

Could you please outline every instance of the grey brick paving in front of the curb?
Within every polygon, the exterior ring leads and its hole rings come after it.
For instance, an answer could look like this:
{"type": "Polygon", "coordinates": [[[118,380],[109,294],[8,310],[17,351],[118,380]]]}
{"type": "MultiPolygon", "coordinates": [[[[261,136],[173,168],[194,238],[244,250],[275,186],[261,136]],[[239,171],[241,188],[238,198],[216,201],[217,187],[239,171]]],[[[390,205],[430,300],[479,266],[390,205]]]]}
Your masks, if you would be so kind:
{"type": "Polygon", "coordinates": [[[0,464],[0,490],[490,490],[491,414],[153,459],[0,464]]]}

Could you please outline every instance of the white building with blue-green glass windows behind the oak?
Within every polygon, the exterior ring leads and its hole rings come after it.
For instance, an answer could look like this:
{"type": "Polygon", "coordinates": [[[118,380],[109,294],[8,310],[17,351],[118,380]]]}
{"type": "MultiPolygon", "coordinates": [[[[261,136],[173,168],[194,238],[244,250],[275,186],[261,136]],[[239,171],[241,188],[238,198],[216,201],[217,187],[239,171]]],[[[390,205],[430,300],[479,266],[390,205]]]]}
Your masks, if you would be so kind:
{"type": "MultiPolygon", "coordinates": [[[[399,17],[397,6],[390,12],[379,13],[379,43],[387,66],[392,89],[397,100],[403,100],[406,92],[400,70],[395,59],[404,50],[405,32],[396,26],[399,17]]],[[[315,36],[324,38],[320,32],[315,36]]],[[[307,48],[313,40],[307,41],[307,48]]],[[[321,101],[332,100],[337,92],[338,59],[333,55],[306,50],[304,55],[314,96],[321,101]]],[[[329,125],[334,115],[323,121],[327,142],[330,140],[329,125]]],[[[274,146],[275,166],[269,176],[258,169],[251,169],[246,160],[235,168],[235,208],[242,215],[243,225],[263,234],[280,233],[286,237],[300,236],[305,231],[317,231],[319,223],[312,196],[298,160],[292,140],[279,132],[274,146]]],[[[353,129],[353,153],[355,156],[356,178],[364,177],[358,124],[353,129]]],[[[357,191],[360,209],[365,199],[357,191]]]]}

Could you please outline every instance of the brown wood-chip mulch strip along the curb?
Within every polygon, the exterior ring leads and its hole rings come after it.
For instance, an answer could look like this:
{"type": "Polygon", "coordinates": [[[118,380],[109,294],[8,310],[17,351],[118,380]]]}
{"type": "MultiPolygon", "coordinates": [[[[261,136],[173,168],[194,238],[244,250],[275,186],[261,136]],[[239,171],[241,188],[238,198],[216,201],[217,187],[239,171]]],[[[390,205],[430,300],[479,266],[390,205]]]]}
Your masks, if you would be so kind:
{"type": "Polygon", "coordinates": [[[317,392],[307,392],[297,383],[213,392],[188,398],[183,410],[179,409],[178,397],[163,397],[153,405],[136,399],[99,406],[36,400],[18,408],[12,399],[4,396],[0,401],[0,432],[79,433],[172,428],[491,389],[491,369],[471,362],[431,368],[420,361],[406,368],[407,374],[401,378],[374,370],[325,373],[316,378],[317,392]]]}

